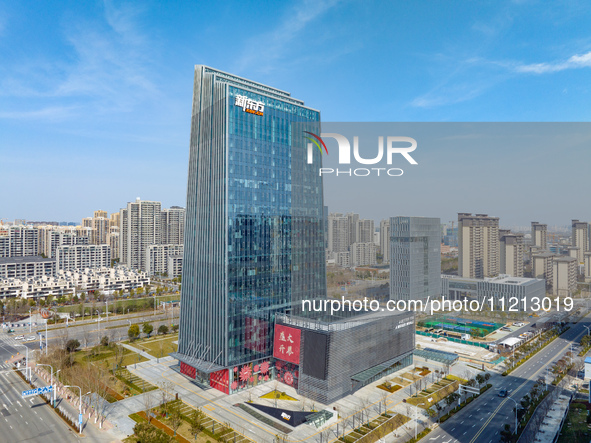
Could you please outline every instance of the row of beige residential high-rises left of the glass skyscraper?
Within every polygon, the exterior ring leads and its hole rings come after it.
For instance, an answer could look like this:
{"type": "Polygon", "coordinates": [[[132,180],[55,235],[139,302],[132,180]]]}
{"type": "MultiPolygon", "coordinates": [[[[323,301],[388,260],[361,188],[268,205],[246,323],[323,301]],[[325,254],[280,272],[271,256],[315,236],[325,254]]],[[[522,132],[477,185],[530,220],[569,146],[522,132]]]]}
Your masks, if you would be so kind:
{"type": "Polygon", "coordinates": [[[80,226],[0,226],[0,260],[6,260],[13,274],[27,266],[38,272],[41,262],[25,265],[18,259],[42,256],[55,261],[53,268],[43,268],[44,275],[108,267],[119,259],[130,269],[176,277],[182,272],[184,224],[184,208],[162,209],[160,202],[138,198],[110,216],[95,211],[80,226]]]}

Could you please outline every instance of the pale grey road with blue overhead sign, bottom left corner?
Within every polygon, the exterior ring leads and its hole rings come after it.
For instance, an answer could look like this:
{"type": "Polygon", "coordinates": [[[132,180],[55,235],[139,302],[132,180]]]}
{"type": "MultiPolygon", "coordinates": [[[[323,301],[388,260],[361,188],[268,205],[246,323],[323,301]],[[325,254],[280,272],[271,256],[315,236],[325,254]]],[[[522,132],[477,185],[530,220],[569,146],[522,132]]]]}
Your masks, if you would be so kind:
{"type": "Polygon", "coordinates": [[[41,397],[21,398],[27,389],[30,387],[14,371],[0,372],[0,441],[79,441],[41,397]]]}

